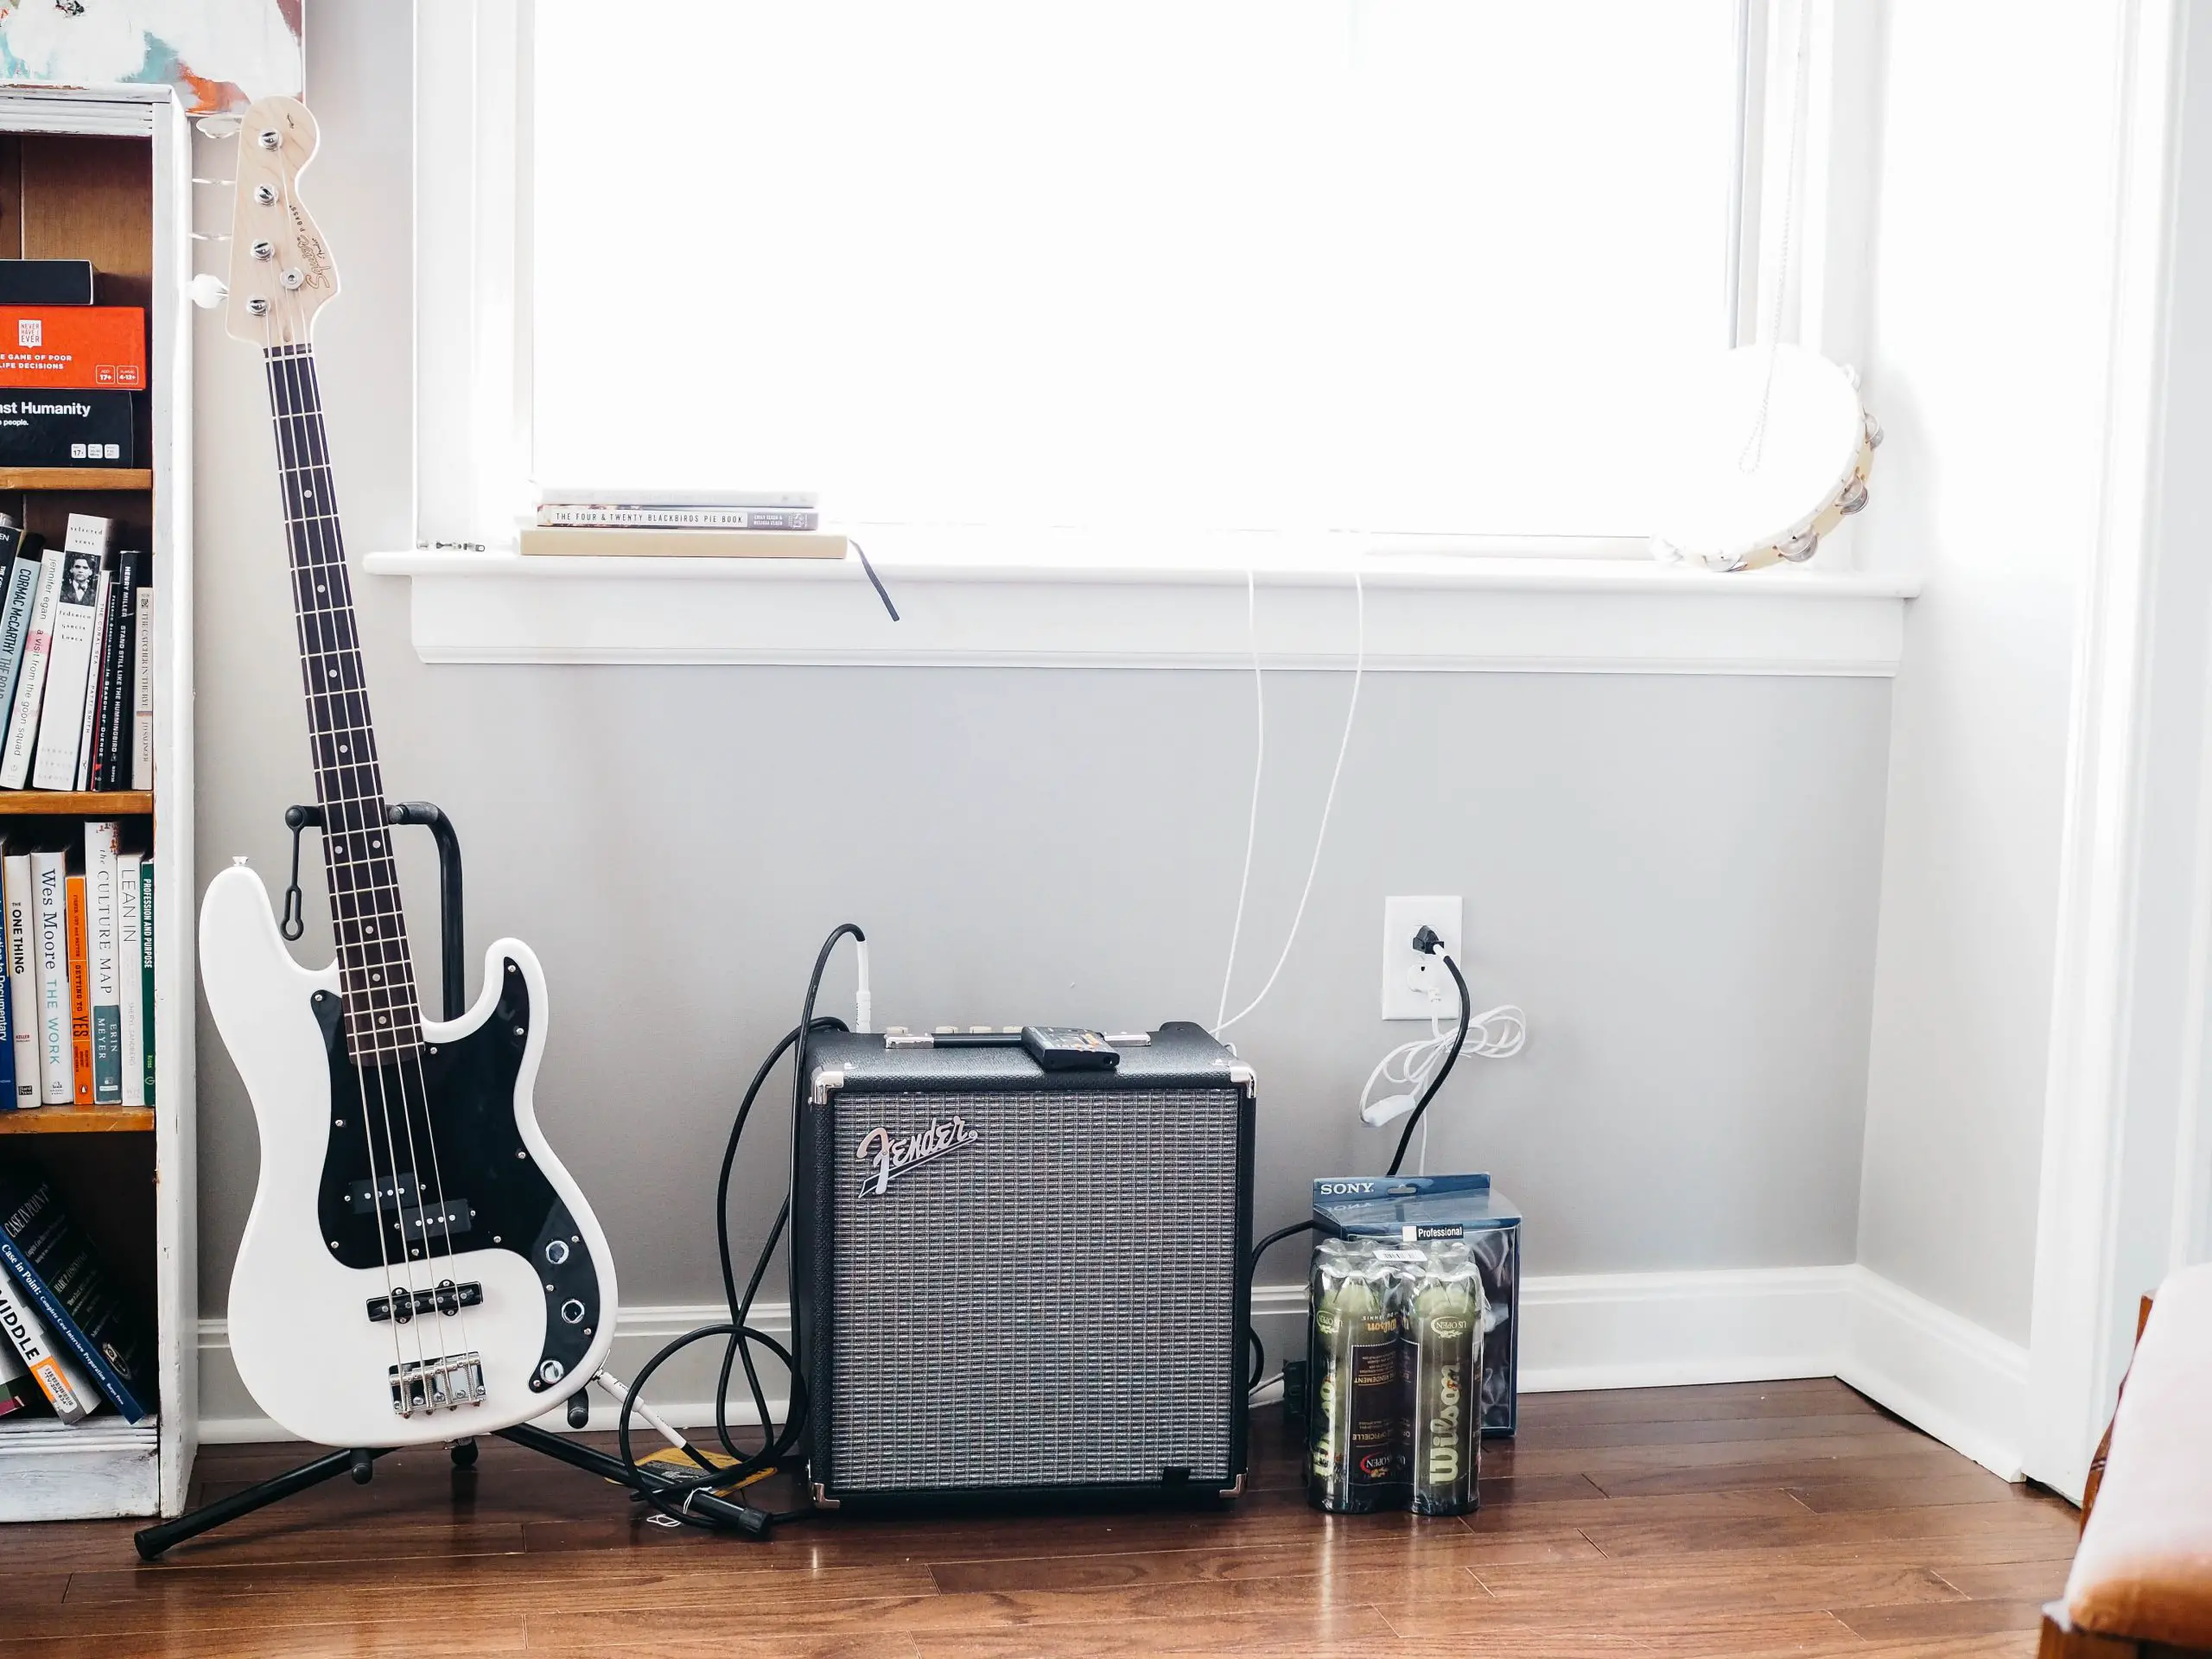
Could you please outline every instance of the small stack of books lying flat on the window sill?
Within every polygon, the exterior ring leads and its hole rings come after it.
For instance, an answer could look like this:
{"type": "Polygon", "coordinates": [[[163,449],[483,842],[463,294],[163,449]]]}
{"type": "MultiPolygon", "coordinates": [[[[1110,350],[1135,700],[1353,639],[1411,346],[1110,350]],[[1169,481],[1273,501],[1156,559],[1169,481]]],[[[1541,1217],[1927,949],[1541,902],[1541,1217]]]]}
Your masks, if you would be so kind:
{"type": "Polygon", "coordinates": [[[524,553],[597,557],[841,560],[814,495],[776,491],[549,489],[524,553]]]}

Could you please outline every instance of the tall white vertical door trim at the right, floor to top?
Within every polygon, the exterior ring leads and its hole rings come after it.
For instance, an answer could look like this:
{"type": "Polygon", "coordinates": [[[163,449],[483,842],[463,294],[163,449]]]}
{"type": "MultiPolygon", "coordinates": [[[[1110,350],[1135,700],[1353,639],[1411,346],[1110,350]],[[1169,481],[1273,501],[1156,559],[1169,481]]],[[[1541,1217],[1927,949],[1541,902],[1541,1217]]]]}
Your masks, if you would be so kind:
{"type": "MultiPolygon", "coordinates": [[[[2148,1048],[2185,1048],[2188,1033],[2137,1031],[2143,918],[2174,894],[2146,887],[2152,812],[2150,624],[2159,593],[2166,338],[2177,144],[2181,11],[2177,0],[2124,9],[2117,173],[2110,215],[2110,303],[2097,538],[2081,577],[2068,719],[2057,971],[2035,1225],[2033,1358],[2020,1449],[2044,1484],[2079,1500],[2088,1460],[2119,1396],[2135,1329],[2121,1230],[2130,1166],[2168,1170],[2174,1126],[2128,1141],[2135,1071],[2148,1048]],[[2154,1144],[2163,1139],[2163,1146],[2154,1144]]],[[[2177,557],[2194,560],[2194,544],[2177,557]]],[[[2172,664],[2166,664],[2172,670],[2172,664]]],[[[2203,672],[2188,675],[2201,695],[2203,672]]],[[[2201,834],[2201,825],[2197,827],[2201,834]]],[[[2170,1181],[2168,1181],[2170,1186],[2170,1181]]]]}

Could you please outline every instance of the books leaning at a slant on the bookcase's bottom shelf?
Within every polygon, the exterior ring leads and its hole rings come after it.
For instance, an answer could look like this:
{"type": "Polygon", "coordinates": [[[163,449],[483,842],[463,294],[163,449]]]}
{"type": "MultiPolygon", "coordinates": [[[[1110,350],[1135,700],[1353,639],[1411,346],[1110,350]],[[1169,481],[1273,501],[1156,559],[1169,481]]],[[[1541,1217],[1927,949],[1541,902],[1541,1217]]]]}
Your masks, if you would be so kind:
{"type": "Polygon", "coordinates": [[[0,1164],[0,1418],[153,1413],[153,1340],[53,1183],[0,1164]]]}

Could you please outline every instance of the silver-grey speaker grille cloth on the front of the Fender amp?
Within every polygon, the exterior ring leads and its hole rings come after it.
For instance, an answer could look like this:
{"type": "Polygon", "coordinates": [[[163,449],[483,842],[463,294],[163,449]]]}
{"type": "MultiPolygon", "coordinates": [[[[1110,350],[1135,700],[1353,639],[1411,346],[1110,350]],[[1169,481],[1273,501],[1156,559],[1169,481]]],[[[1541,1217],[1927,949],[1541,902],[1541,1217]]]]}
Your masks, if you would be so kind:
{"type": "Polygon", "coordinates": [[[847,1093],[832,1110],[841,1491],[1228,1482],[1237,1091],[847,1093]],[[956,1115],[980,1139],[860,1190],[869,1130],[956,1115]]]}

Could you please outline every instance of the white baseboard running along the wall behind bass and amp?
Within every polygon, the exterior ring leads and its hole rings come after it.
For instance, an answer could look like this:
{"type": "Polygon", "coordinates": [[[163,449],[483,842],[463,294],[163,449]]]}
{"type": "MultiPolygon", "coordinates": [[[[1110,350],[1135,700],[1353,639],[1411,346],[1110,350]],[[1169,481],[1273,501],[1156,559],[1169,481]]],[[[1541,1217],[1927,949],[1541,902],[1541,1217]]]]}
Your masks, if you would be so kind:
{"type": "MultiPolygon", "coordinates": [[[[670,1338],[723,1318],[721,1303],[626,1307],[611,1367],[635,1376],[670,1338]]],[[[1252,1292],[1270,1369],[1303,1340],[1303,1281],[1252,1292]]],[[[790,1307],[757,1303],[754,1325],[781,1338],[790,1307]]],[[[2006,1480],[2020,1478],[2026,1349],[1865,1267],[1535,1276],[1522,1281],[1520,1340],[1522,1394],[1840,1376],[2006,1480]]],[[[706,1427],[719,1363],[721,1343],[701,1343],[653,1378],[648,1398],[677,1427],[706,1427]]],[[[239,1385],[219,1318],[199,1325],[199,1438],[210,1444],[290,1438],[239,1385]]],[[[783,1398],[772,1396],[770,1409],[781,1413],[783,1398]]],[[[730,1420],[750,1425],[750,1402],[730,1420]]],[[[540,1427],[562,1429],[566,1418],[555,1409],[540,1427]]],[[[591,1427],[615,1427],[608,1400],[593,1398],[591,1427]]]]}

